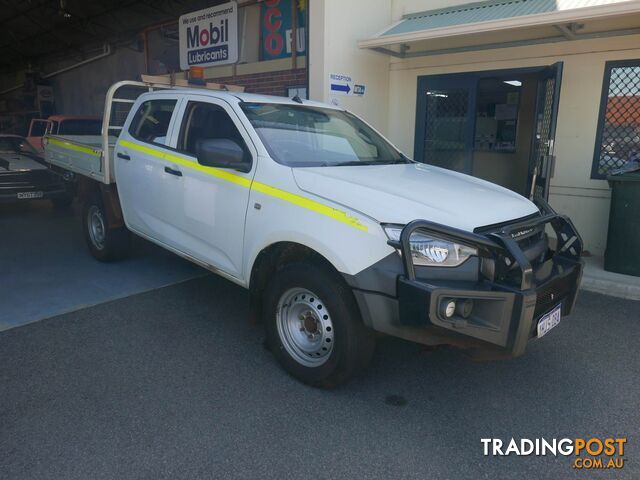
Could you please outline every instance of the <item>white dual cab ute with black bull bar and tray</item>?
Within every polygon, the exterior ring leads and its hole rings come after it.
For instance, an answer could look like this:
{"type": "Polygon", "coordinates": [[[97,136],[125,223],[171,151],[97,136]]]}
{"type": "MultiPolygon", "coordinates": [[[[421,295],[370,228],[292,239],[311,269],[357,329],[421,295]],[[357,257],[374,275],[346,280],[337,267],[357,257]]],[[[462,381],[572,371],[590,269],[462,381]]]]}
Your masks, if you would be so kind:
{"type": "Polygon", "coordinates": [[[104,115],[102,138],[45,148],[80,174],[91,253],[122,258],[133,233],[247,288],[271,351],[308,384],[360,371],[375,331],[521,355],[574,306],[568,218],[414,162],[341,108],[120,82],[104,115]],[[119,126],[116,104],[131,107],[119,126]]]}

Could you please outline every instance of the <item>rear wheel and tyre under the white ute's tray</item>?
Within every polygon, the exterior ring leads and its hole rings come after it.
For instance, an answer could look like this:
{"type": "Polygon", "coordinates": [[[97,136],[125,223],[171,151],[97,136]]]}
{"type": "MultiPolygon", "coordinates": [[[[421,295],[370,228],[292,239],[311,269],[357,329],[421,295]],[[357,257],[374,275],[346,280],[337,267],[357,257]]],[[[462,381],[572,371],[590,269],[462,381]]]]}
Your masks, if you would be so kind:
{"type": "Polygon", "coordinates": [[[112,228],[99,194],[91,196],[82,209],[82,225],[87,246],[97,260],[121,260],[131,253],[131,232],[112,228]]]}

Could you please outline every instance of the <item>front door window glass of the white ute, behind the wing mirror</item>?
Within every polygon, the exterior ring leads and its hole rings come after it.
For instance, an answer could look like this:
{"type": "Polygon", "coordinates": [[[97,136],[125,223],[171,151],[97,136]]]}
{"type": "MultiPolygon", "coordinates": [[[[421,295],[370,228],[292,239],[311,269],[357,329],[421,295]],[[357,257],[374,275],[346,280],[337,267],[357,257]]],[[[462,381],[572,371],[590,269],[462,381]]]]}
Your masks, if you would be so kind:
{"type": "Polygon", "coordinates": [[[249,149],[242,135],[222,107],[211,103],[189,102],[178,139],[178,150],[195,157],[199,142],[216,138],[233,140],[240,145],[245,158],[249,158],[249,149]]]}

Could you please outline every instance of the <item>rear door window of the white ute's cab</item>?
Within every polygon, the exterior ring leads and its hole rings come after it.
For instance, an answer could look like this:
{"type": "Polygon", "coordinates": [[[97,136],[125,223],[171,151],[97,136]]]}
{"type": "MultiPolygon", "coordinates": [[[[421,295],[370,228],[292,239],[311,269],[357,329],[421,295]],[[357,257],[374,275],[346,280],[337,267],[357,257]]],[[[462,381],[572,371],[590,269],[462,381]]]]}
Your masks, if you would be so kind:
{"type": "Polygon", "coordinates": [[[129,133],[137,140],[167,145],[169,122],[176,107],[176,100],[147,100],[136,112],[129,133]]]}

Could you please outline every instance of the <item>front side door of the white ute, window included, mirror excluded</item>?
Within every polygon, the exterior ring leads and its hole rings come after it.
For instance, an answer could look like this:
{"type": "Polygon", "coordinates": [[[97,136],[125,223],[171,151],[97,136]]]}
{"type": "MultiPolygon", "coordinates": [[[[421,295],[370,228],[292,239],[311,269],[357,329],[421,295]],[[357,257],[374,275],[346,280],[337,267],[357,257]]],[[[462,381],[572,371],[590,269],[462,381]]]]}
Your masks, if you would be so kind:
{"type": "Polygon", "coordinates": [[[178,250],[235,277],[241,276],[244,227],[257,151],[237,114],[225,101],[190,96],[176,123],[177,156],[167,162],[165,213],[178,250]],[[253,159],[248,173],[204,167],[196,145],[207,139],[233,140],[253,159]]]}

